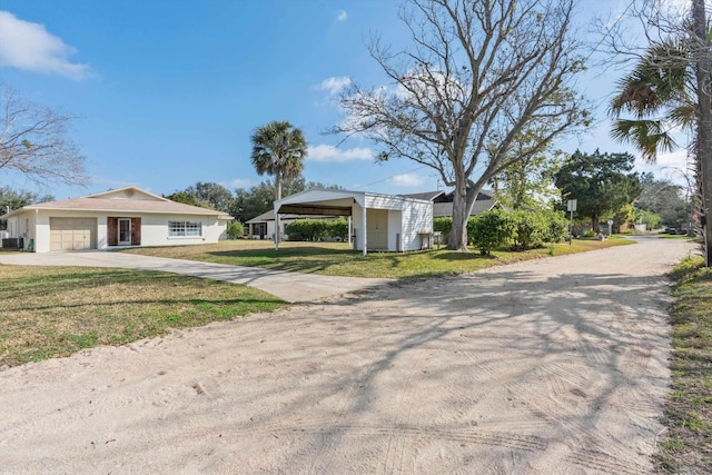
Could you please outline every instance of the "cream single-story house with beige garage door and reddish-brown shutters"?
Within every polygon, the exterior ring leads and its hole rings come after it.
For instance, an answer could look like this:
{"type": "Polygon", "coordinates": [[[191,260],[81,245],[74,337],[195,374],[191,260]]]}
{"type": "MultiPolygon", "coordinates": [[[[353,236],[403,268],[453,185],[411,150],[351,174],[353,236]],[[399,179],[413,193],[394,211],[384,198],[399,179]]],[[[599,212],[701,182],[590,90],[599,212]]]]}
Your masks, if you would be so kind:
{"type": "Polygon", "coordinates": [[[0,219],[8,220],[10,238],[23,238],[24,249],[48,253],[217,243],[227,238],[233,217],[126,187],[26,206],[0,219]]]}

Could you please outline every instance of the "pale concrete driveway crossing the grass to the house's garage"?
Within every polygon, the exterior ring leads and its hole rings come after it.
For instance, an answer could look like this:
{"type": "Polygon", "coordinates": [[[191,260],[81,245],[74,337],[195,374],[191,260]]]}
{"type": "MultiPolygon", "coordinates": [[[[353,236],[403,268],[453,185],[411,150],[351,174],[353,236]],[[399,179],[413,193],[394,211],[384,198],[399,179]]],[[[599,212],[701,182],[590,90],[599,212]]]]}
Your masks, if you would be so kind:
{"type": "Polygon", "coordinates": [[[138,256],[135,254],[109,253],[103,250],[0,254],[0,264],[22,266],[120,267],[127,269],[162,270],[166,273],[224,280],[255,287],[290,303],[314,301],[393,281],[390,279],[286,273],[258,267],[229,266],[226,264],[199,263],[195,260],[138,256]]]}

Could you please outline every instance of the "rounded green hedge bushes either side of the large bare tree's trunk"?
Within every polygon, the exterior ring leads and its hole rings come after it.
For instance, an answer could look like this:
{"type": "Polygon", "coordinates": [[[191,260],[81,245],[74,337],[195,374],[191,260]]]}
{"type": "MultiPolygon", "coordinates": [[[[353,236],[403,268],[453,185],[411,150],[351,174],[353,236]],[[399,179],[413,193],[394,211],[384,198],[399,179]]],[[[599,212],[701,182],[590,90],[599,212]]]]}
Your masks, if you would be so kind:
{"type": "MultiPolygon", "coordinates": [[[[435,231],[446,239],[453,218],[433,220],[435,231]]],[[[467,220],[469,243],[482,254],[507,247],[514,250],[542,247],[545,243],[560,243],[566,236],[568,221],[562,211],[505,211],[495,209],[467,220]]]]}

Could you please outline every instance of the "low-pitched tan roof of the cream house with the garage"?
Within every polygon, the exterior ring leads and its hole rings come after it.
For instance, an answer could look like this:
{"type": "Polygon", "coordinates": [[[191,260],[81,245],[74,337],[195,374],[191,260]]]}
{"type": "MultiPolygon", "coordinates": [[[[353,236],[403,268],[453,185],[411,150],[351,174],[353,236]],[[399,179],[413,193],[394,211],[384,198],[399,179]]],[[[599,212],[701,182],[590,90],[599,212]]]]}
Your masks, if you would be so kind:
{"type": "Polygon", "coordinates": [[[216,216],[219,219],[233,219],[222,211],[171,201],[170,199],[154,195],[137,187],[126,187],[79,198],[29,205],[10,211],[2,216],[2,218],[8,218],[28,210],[204,215],[216,216]]]}

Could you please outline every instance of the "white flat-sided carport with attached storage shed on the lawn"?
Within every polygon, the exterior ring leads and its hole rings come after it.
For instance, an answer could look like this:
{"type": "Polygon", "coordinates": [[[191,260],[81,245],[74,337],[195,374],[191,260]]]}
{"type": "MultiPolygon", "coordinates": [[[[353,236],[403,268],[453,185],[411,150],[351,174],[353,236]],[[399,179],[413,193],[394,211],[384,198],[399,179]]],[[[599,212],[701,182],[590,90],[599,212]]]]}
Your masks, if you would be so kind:
{"type": "MultiPolygon", "coordinates": [[[[346,217],[354,248],[364,255],[418,250],[429,246],[433,234],[433,202],[404,196],[310,189],[275,201],[274,212],[277,229],[280,215],[346,217]]],[[[276,238],[278,249],[279,234],[276,238]]]]}

